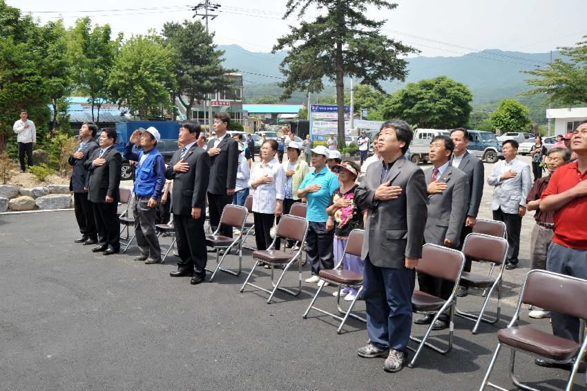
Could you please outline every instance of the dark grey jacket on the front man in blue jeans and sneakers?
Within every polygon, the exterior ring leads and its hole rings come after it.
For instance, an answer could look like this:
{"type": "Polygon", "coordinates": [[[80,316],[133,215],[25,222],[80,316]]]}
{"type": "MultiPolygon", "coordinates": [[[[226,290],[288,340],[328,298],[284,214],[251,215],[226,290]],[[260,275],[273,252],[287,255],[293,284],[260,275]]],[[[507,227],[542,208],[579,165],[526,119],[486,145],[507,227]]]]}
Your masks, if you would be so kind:
{"type": "Polygon", "coordinates": [[[424,172],[400,157],[383,179],[391,181],[392,186],[401,186],[400,196],[374,201],[382,171],[381,162],[369,165],[354,193],[358,208],[367,210],[361,258],[369,255],[371,263],[381,268],[405,268],[405,257],[422,257],[428,199],[424,172]]]}

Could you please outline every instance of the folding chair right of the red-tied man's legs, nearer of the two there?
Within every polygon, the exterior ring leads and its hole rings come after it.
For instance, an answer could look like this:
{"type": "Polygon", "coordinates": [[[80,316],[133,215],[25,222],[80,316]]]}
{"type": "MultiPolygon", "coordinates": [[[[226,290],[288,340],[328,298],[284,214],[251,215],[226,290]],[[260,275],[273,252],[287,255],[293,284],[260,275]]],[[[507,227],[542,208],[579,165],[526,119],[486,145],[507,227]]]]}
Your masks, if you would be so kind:
{"type": "Polygon", "coordinates": [[[477,334],[479,323],[495,324],[499,321],[501,314],[501,281],[503,279],[503,270],[506,266],[506,255],[508,254],[508,241],[503,237],[493,237],[486,234],[468,234],[463,244],[463,253],[465,257],[472,261],[486,261],[499,265],[499,274],[497,277],[485,276],[482,274],[475,274],[473,272],[463,272],[461,274],[460,285],[469,288],[485,290],[489,288],[487,297],[481,307],[479,314],[472,314],[470,312],[460,311],[456,309],[456,316],[463,317],[475,321],[472,333],[477,334]],[[494,319],[483,317],[483,313],[487,308],[489,299],[494,290],[497,290],[497,314],[494,319]]]}

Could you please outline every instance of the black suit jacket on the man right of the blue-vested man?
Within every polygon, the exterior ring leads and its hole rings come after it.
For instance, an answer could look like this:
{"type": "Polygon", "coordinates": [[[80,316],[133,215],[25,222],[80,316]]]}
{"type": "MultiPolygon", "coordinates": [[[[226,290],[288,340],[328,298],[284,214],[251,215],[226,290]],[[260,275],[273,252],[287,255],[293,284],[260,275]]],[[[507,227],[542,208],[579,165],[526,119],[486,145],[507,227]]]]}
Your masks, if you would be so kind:
{"type": "MultiPolygon", "coordinates": [[[[191,208],[202,208],[202,217],[204,217],[206,191],[211,175],[210,157],[208,152],[198,147],[198,144],[194,144],[184,155],[184,161],[189,164],[189,170],[175,172],[173,166],[180,161],[181,156],[182,150],[175,151],[165,170],[165,177],[173,179],[171,210],[174,214],[190,215],[191,208]]],[[[224,190],[224,194],[226,194],[226,190],[224,190]]]]}

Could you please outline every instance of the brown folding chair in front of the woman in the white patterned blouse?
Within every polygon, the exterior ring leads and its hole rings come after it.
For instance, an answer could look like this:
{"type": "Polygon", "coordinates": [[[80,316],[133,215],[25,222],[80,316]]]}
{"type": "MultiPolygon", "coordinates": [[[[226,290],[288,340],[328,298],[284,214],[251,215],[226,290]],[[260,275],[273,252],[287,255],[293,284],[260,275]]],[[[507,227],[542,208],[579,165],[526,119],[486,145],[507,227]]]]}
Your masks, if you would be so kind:
{"type": "Polygon", "coordinates": [[[281,291],[289,293],[293,296],[298,296],[298,294],[300,294],[302,292],[302,263],[298,260],[300,257],[300,254],[302,253],[302,248],[300,247],[300,249],[297,252],[293,252],[292,254],[289,254],[285,251],[274,250],[274,249],[275,249],[276,241],[278,238],[292,239],[294,241],[299,241],[300,243],[303,243],[306,239],[307,232],[308,232],[308,221],[306,219],[302,219],[301,217],[296,217],[296,216],[291,216],[289,214],[285,214],[285,216],[283,216],[280,219],[280,221],[277,225],[276,237],[273,239],[273,242],[271,243],[269,248],[267,248],[267,250],[256,250],[255,252],[253,252],[253,260],[255,261],[255,264],[253,265],[253,268],[251,268],[251,272],[249,272],[249,276],[247,276],[247,280],[245,280],[244,284],[242,284],[242,288],[240,288],[240,292],[244,292],[244,288],[247,285],[251,285],[257,289],[262,290],[263,292],[267,292],[267,293],[269,293],[269,299],[267,299],[267,304],[271,303],[271,299],[273,299],[273,295],[275,294],[275,292],[277,290],[281,290],[281,291]],[[297,292],[294,292],[293,290],[281,288],[279,286],[279,284],[281,283],[287,270],[289,270],[289,267],[291,265],[293,265],[294,262],[296,262],[296,261],[298,261],[298,268],[299,268],[299,270],[298,270],[298,283],[299,283],[299,285],[298,285],[297,292]],[[261,263],[261,262],[268,263],[269,265],[271,265],[271,285],[273,285],[273,290],[261,288],[260,286],[253,285],[252,283],[249,282],[249,280],[251,279],[251,276],[253,275],[253,272],[255,271],[255,269],[257,268],[259,263],[261,263]],[[285,266],[283,268],[283,271],[281,272],[279,279],[277,280],[277,283],[274,283],[273,282],[273,272],[275,271],[275,266],[277,266],[277,265],[285,265],[285,266]]]}

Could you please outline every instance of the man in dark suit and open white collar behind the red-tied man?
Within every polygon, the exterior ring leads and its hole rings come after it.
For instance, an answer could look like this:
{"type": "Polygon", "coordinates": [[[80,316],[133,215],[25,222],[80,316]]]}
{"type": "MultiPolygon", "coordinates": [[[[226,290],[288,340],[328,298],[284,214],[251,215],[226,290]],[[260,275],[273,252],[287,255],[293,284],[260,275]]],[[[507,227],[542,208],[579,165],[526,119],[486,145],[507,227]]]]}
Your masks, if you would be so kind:
{"type": "MultiPolygon", "coordinates": [[[[450,162],[453,167],[458,168],[464,172],[469,179],[469,206],[467,216],[461,228],[460,244],[456,247],[461,250],[465,237],[473,232],[473,225],[477,221],[477,213],[479,212],[479,205],[481,205],[481,198],[483,197],[483,183],[485,182],[485,168],[483,161],[467,150],[469,146],[469,132],[465,128],[456,128],[450,132],[450,139],[454,143],[454,150],[452,151],[452,159],[450,162]]],[[[471,261],[465,261],[465,272],[471,271],[471,261]]],[[[457,295],[459,297],[467,296],[467,287],[459,286],[457,295]]]]}

